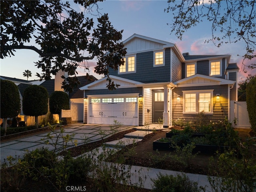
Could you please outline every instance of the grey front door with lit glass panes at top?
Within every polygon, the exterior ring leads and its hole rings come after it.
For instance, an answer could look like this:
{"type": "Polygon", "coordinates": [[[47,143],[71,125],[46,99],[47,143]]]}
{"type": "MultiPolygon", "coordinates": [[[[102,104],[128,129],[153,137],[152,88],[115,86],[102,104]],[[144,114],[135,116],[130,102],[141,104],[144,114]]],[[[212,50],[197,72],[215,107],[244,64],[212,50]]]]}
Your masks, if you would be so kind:
{"type": "Polygon", "coordinates": [[[153,91],[153,117],[152,122],[157,123],[163,119],[164,112],[164,91],[153,91]]]}

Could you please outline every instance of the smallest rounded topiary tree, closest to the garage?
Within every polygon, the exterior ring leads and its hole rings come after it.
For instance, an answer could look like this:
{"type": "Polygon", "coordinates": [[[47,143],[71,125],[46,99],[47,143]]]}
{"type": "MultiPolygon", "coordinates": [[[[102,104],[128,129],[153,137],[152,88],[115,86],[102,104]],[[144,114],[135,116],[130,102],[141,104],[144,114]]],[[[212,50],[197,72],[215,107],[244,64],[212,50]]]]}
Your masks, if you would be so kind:
{"type": "Polygon", "coordinates": [[[69,97],[63,91],[54,91],[49,98],[49,108],[52,114],[58,114],[59,120],[61,117],[61,110],[69,109],[69,97]]]}

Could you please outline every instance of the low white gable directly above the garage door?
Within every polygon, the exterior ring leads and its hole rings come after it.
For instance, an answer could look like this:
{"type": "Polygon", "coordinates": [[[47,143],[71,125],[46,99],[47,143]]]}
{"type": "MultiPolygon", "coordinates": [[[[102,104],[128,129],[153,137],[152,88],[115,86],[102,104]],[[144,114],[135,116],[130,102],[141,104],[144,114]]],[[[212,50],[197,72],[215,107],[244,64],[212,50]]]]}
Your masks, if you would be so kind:
{"type": "MultiPolygon", "coordinates": [[[[134,87],[137,84],[143,84],[142,82],[129,80],[122,77],[113,76],[113,75],[110,75],[109,77],[115,84],[119,84],[120,86],[122,86],[122,88],[134,87]]],[[[108,84],[107,77],[104,77],[100,80],[97,80],[95,82],[92,82],[90,84],[80,87],[80,90],[106,89],[107,84],[108,84]]]]}

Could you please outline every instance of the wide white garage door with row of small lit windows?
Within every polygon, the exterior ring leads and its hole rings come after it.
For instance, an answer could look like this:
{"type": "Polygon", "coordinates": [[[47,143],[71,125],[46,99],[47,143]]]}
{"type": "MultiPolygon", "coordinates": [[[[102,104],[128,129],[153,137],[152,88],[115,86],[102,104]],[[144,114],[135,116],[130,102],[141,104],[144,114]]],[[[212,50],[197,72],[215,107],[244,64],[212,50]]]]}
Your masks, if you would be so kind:
{"type": "Polygon", "coordinates": [[[89,98],[88,123],[114,124],[114,120],[124,125],[138,125],[137,96],[89,98]]]}

